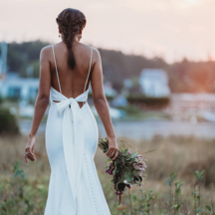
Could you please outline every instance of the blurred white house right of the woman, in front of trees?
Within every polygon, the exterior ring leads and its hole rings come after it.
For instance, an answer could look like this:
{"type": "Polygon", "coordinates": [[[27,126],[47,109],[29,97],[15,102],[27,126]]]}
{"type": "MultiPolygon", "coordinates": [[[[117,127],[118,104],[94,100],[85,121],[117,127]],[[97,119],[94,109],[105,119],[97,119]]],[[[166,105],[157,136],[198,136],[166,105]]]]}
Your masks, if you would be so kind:
{"type": "Polygon", "coordinates": [[[168,97],[170,95],[168,76],[162,69],[143,69],[139,83],[142,92],[147,97],[168,97]]]}

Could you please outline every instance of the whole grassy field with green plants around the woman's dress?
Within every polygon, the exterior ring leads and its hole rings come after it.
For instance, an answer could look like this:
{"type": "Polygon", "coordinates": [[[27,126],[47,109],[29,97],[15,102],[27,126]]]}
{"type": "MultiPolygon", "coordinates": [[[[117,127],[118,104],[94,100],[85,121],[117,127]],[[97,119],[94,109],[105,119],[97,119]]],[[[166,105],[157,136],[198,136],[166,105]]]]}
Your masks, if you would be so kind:
{"type": "MultiPolygon", "coordinates": [[[[0,137],[1,215],[43,214],[50,176],[45,138],[43,135],[37,136],[37,161],[29,161],[28,165],[24,160],[26,141],[26,136],[0,137]]],[[[120,145],[123,142],[128,143],[128,140],[118,139],[120,145]]],[[[155,137],[153,140],[129,140],[128,144],[132,146],[133,152],[154,151],[143,154],[147,164],[143,186],[127,190],[120,206],[110,183],[111,176],[105,173],[106,157],[100,149],[97,149],[95,156],[112,215],[214,214],[215,140],[172,136],[166,139],[155,137]],[[194,175],[196,170],[205,170],[201,182],[194,175]],[[170,184],[167,184],[166,179],[171,173],[176,174],[176,183],[171,185],[170,197],[170,184]],[[183,184],[179,185],[180,182],[183,184]],[[178,184],[178,190],[175,184],[178,184]]]]}

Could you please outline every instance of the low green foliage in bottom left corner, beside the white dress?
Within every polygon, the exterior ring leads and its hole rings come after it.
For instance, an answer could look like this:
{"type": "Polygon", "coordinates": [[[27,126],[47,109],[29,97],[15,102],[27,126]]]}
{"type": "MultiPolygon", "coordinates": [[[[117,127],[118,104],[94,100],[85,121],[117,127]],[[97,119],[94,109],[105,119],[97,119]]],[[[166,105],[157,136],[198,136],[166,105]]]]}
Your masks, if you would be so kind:
{"type": "Polygon", "coordinates": [[[46,204],[48,184],[31,182],[16,161],[13,177],[6,182],[0,181],[0,215],[43,214],[46,204]],[[36,185],[36,187],[35,187],[36,185]]]}

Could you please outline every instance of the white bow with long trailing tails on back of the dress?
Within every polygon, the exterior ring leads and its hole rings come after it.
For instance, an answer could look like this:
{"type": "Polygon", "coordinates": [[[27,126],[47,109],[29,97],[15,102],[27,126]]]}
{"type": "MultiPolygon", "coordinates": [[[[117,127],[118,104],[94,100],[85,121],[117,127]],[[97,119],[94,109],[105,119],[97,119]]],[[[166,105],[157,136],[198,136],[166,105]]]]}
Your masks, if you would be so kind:
{"type": "Polygon", "coordinates": [[[59,101],[59,103],[55,104],[59,115],[63,114],[63,147],[69,182],[75,202],[77,200],[84,155],[82,113],[78,102],[87,101],[88,90],[76,98],[67,98],[51,87],[51,99],[59,101]]]}

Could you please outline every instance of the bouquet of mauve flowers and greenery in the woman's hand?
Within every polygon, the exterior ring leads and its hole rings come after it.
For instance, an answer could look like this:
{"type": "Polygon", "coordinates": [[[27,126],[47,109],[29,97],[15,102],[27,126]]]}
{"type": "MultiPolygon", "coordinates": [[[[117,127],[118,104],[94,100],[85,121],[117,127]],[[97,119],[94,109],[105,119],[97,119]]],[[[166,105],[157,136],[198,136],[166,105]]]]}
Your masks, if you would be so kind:
{"type": "MultiPolygon", "coordinates": [[[[99,148],[106,153],[108,151],[108,139],[100,138],[99,148]]],[[[115,194],[119,196],[119,205],[121,204],[122,194],[125,188],[131,188],[131,185],[142,185],[145,177],[143,174],[147,168],[143,162],[141,154],[131,154],[128,147],[120,148],[118,157],[112,161],[107,160],[106,173],[113,175],[111,182],[114,184],[115,194]]]]}

